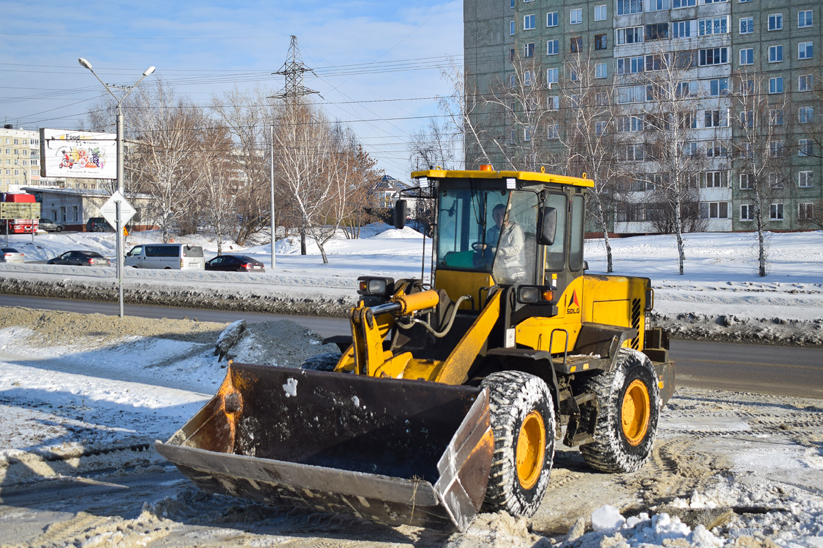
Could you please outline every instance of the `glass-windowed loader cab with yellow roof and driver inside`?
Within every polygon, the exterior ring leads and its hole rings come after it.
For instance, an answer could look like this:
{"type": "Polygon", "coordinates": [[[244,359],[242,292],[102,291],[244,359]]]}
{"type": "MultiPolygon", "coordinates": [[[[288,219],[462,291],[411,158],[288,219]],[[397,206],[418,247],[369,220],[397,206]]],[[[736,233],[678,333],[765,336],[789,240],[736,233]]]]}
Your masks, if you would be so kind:
{"type": "MultiPolygon", "coordinates": [[[[426,177],[437,202],[436,289],[471,295],[480,311],[489,288],[518,286],[525,302],[549,305],[584,272],[585,196],[593,182],[548,173],[442,171],[426,177]]],[[[518,302],[521,299],[518,297],[518,302]]]]}

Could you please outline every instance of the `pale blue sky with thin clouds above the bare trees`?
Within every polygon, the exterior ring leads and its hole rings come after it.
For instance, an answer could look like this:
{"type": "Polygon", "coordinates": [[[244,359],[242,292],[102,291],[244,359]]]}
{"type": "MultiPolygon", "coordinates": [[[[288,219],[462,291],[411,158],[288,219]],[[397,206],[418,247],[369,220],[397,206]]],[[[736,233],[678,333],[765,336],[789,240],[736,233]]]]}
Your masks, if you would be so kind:
{"type": "MultiPolygon", "coordinates": [[[[0,2],[0,118],[15,127],[74,129],[106,83],[130,85],[151,65],[179,94],[208,104],[274,75],[296,35],[304,85],[332,119],[349,122],[386,173],[408,177],[410,135],[449,93],[439,67],[463,63],[463,2],[417,0],[86,0],[0,2]]],[[[142,85],[142,84],[141,84],[142,85]]]]}

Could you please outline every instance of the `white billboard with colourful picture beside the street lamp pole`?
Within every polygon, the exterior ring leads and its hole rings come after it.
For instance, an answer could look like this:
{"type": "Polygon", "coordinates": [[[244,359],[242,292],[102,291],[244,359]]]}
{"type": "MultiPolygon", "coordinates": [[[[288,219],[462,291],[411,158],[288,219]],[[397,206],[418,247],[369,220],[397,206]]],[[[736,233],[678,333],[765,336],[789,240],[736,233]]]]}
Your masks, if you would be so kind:
{"type": "Polygon", "coordinates": [[[40,129],[40,177],[117,178],[117,135],[40,129]]]}

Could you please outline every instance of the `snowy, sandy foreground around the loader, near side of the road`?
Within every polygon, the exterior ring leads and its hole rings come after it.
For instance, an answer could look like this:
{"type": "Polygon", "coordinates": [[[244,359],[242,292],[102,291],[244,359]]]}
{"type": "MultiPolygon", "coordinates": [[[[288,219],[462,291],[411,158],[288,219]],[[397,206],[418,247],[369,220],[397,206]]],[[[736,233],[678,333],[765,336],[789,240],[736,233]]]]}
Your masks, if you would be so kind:
{"type": "MultiPolygon", "coordinates": [[[[701,389],[678,389],[639,472],[593,472],[559,448],[530,521],[482,514],[450,535],[202,494],[151,442],[215,392],[224,327],[2,309],[0,546],[823,546],[823,402],[701,389]]],[[[289,321],[250,329],[238,361],[329,350],[289,321]]]]}

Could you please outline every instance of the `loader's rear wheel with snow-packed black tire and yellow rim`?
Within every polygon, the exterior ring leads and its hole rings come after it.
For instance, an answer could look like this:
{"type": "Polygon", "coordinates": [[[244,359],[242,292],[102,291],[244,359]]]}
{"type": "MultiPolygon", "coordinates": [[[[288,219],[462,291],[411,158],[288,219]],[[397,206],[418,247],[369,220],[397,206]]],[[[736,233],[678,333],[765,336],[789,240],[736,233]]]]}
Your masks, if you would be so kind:
{"type": "Polygon", "coordinates": [[[582,389],[597,396],[600,408],[581,409],[584,425],[597,414],[593,443],[580,446],[586,463],[602,472],[639,470],[652,452],[660,416],[658,379],[649,357],[621,348],[614,371],[589,377],[582,389]]]}

